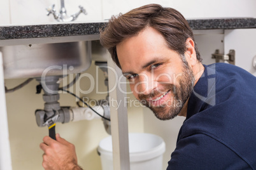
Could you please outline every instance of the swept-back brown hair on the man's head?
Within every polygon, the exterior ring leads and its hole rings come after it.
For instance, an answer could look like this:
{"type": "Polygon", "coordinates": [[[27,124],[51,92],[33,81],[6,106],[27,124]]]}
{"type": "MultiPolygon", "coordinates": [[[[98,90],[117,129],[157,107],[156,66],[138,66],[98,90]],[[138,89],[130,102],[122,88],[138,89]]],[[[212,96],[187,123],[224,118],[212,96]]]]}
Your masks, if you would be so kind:
{"type": "MultiPolygon", "coordinates": [[[[159,4],[148,4],[141,6],[118,16],[112,16],[108,25],[101,30],[101,44],[108,49],[111,57],[118,67],[120,63],[117,58],[116,46],[124,39],[136,36],[146,27],[158,30],[170,49],[184,55],[187,50],[185,42],[190,37],[194,41],[194,35],[187,20],[183,15],[173,8],[163,8],[159,4]]],[[[195,43],[197,60],[202,58],[195,43]]]]}

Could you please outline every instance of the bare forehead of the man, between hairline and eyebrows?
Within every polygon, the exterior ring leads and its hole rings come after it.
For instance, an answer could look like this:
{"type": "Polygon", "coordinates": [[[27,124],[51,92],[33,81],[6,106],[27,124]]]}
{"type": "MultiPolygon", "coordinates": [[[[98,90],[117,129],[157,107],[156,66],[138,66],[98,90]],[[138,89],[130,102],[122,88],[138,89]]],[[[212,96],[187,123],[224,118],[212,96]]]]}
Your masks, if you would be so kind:
{"type": "Polygon", "coordinates": [[[148,27],[136,36],[128,37],[116,46],[122,71],[138,72],[166,56],[166,41],[157,30],[148,27]]]}

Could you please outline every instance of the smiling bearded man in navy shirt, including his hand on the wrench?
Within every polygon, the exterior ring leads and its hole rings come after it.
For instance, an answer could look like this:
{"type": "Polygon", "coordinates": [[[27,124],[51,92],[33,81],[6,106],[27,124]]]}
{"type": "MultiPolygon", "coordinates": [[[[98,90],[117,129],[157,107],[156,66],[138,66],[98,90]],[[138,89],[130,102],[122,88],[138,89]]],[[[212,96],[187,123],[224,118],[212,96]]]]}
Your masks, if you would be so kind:
{"type": "MultiPolygon", "coordinates": [[[[256,169],[256,78],[225,63],[203,65],[178,11],[149,4],[113,16],[101,44],[158,119],[186,117],[167,169],[256,169]]],[[[48,158],[61,146],[68,166],[80,168],[70,143],[43,141],[45,168],[55,166],[48,158]]]]}

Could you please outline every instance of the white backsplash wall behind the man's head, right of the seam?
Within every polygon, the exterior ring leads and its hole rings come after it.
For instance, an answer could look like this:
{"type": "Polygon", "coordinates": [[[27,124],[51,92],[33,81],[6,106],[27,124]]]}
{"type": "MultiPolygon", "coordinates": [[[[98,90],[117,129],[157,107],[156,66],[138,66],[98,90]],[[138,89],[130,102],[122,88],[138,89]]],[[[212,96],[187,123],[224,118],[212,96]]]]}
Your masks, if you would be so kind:
{"type": "Polygon", "coordinates": [[[253,0],[131,0],[118,1],[108,0],[103,1],[103,16],[104,19],[110,18],[111,15],[125,13],[132,8],[137,8],[144,4],[158,3],[162,6],[169,6],[180,11],[185,18],[224,18],[224,17],[255,17],[255,5],[253,0]]]}

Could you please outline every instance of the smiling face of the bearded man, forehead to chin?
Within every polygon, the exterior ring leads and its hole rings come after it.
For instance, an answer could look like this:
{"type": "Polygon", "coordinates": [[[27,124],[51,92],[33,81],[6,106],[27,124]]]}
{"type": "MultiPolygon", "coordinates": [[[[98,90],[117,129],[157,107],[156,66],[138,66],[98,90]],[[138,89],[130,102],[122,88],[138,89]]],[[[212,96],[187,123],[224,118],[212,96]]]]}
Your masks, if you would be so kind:
{"type": "Polygon", "coordinates": [[[167,47],[155,29],[148,27],[117,45],[117,56],[133,95],[161,120],[173,119],[188,100],[192,69],[167,47]]]}

